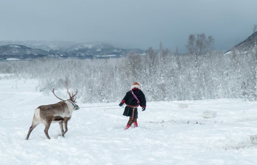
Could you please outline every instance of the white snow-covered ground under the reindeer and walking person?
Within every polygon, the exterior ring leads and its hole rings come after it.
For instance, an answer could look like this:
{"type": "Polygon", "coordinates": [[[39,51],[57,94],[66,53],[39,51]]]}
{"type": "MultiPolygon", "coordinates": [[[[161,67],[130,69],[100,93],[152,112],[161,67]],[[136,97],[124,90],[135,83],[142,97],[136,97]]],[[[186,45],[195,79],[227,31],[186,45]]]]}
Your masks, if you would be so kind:
{"type": "Polygon", "coordinates": [[[257,145],[249,138],[257,134],[257,102],[148,102],[139,111],[139,127],[128,130],[118,103],[78,102],[116,106],[74,111],[65,138],[53,123],[50,140],[43,124],[25,140],[34,109],[59,102],[51,92],[35,92],[37,83],[0,80],[0,164],[257,164],[257,145]],[[179,109],[181,103],[189,107],[179,109]],[[217,111],[217,117],[204,119],[205,110],[217,111]]]}

